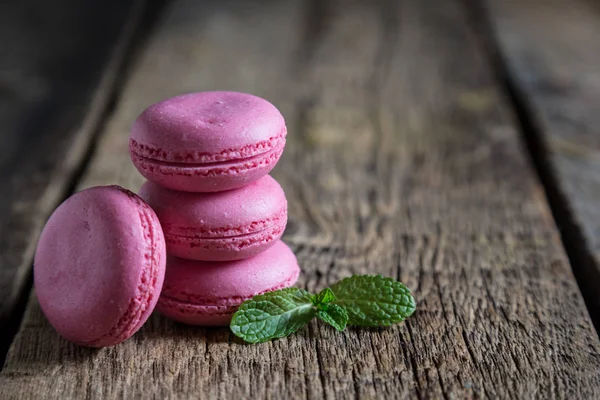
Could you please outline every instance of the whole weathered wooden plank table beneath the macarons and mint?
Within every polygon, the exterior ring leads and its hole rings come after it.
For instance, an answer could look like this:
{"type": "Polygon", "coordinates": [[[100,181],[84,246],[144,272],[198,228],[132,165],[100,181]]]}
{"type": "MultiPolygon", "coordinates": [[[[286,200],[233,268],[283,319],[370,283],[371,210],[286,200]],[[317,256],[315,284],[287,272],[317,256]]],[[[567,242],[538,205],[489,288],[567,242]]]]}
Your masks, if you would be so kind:
{"type": "MultiPolygon", "coordinates": [[[[600,398],[597,2],[64,3],[0,61],[0,398],[600,398]],[[286,117],[299,286],[395,277],[406,323],[245,345],[154,315],[101,350],[52,330],[30,273],[48,215],[137,190],[132,121],[214,89],[286,117]]],[[[31,14],[3,8],[18,35],[31,14]]]]}

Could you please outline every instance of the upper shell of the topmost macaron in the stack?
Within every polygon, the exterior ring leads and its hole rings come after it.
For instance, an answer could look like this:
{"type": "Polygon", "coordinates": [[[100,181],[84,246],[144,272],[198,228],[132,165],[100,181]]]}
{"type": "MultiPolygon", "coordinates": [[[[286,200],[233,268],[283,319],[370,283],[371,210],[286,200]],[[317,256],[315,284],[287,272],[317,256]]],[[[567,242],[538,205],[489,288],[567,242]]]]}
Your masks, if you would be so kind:
{"type": "Polygon", "coordinates": [[[148,107],[131,130],[136,154],[175,163],[213,163],[266,153],[286,135],[267,100],[247,93],[199,92],[148,107]]]}

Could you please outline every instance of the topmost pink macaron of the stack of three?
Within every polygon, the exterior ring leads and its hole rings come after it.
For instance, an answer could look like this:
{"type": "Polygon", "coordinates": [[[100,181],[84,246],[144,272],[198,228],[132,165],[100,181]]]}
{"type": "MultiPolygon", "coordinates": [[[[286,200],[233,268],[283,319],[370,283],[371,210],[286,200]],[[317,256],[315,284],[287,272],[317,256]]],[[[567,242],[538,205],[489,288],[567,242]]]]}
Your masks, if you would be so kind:
{"type": "Polygon", "coordinates": [[[134,165],[148,180],[186,192],[240,188],[273,169],[285,146],[281,113],[237,92],[202,92],[150,106],[129,140],[134,165]]]}

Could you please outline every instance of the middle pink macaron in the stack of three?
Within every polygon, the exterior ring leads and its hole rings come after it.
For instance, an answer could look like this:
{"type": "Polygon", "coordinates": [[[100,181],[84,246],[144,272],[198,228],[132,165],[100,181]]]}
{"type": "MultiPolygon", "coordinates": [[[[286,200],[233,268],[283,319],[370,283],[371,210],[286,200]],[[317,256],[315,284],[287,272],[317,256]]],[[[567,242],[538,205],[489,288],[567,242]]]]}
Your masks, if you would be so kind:
{"type": "Polygon", "coordinates": [[[189,193],[146,182],[139,191],[162,224],[170,255],[201,261],[247,258],[283,234],[287,201],[265,175],[240,189],[189,193]]]}

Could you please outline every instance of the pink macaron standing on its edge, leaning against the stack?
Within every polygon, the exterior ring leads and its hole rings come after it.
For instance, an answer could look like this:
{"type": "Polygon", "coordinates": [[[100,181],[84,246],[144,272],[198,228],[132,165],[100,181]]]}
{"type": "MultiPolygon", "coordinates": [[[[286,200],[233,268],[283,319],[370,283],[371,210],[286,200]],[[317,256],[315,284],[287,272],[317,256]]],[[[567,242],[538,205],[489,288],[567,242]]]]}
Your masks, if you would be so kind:
{"type": "Polygon", "coordinates": [[[111,346],[152,313],[165,264],[154,211],[128,190],[95,187],[71,196],[46,223],[35,253],[35,290],[65,339],[111,346]]]}

